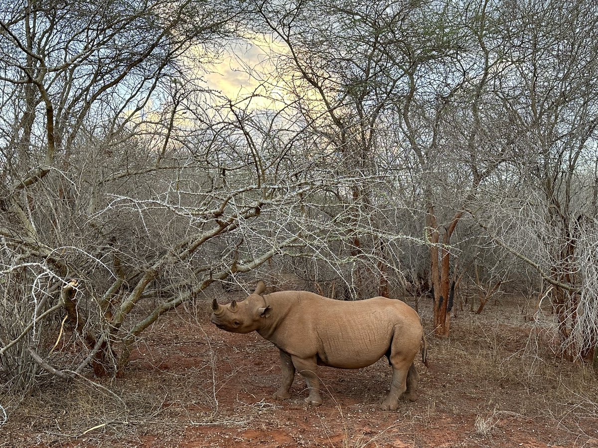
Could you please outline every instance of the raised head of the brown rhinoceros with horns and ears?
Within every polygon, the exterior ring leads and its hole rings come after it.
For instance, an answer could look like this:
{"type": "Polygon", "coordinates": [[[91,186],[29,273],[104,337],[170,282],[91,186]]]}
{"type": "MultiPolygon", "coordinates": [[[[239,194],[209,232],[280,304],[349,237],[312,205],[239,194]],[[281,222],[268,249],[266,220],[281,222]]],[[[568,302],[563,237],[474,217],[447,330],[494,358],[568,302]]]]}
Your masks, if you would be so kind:
{"type": "Polygon", "coordinates": [[[264,325],[264,319],[270,316],[271,308],[266,305],[261,294],[266,284],[259,281],[253,294],[237,303],[233,300],[228,305],[220,305],[216,299],[212,302],[212,323],[221,330],[232,333],[250,333],[264,325]]]}

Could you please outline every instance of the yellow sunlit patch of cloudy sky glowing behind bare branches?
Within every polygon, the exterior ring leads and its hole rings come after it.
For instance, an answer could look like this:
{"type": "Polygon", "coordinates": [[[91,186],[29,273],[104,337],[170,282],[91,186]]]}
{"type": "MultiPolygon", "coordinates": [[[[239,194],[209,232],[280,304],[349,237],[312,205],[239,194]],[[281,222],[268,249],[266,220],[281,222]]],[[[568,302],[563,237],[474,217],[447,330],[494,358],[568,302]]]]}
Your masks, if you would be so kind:
{"type": "MultiPolygon", "coordinates": [[[[127,109],[123,116],[137,128],[141,127],[144,134],[152,136],[157,147],[165,134],[164,117],[169,114],[172,114],[170,134],[182,133],[179,137],[203,126],[203,118],[236,121],[249,115],[251,120],[263,116],[280,129],[294,128],[297,132],[301,128],[295,104],[297,79],[280,67],[285,53],[286,48],[280,42],[266,35],[234,39],[219,51],[194,45],[180,60],[185,79],[173,76],[170,85],[154,91],[144,108],[127,109]],[[173,110],[175,104],[179,105],[176,111],[173,110]],[[132,114],[135,116],[131,117],[132,114]]],[[[312,103],[310,107],[315,108],[315,93],[306,87],[303,93],[303,101],[312,103]]],[[[253,137],[260,139],[258,135],[253,137]]]]}

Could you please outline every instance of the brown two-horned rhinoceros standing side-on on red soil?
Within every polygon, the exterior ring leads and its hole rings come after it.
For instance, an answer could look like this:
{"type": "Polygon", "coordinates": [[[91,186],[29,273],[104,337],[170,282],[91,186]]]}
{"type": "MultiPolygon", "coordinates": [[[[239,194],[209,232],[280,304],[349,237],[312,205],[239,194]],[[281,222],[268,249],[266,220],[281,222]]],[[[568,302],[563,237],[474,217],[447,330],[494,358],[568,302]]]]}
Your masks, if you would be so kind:
{"type": "Polygon", "coordinates": [[[361,369],[384,355],[392,366],[390,393],[384,410],[396,410],[401,395],[416,400],[419,375],[414,358],[426,340],[417,312],[401,300],[328,299],[307,291],[264,294],[260,281],[254,293],[228,305],[212,302],[212,323],[232,333],[257,331],[280,351],[282,383],[274,398],[289,398],[295,371],[305,379],[308,404],[322,404],[318,364],[339,369],[361,369]]]}

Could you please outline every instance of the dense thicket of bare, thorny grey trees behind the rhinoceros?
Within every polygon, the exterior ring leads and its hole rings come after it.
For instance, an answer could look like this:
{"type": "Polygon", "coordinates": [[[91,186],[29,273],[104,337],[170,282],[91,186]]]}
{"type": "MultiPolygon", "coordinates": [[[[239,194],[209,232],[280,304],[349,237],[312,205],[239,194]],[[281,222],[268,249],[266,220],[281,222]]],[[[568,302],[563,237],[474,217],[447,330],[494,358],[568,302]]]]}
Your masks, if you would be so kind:
{"type": "Polygon", "coordinates": [[[463,285],[481,311],[511,281],[551,301],[562,354],[595,355],[596,5],[17,1],[0,14],[6,385],[122,373],[164,312],[213,283],[289,273],[344,299],[429,285],[438,335],[463,285]],[[227,42],[264,36],[259,91],[206,88],[227,42]]]}

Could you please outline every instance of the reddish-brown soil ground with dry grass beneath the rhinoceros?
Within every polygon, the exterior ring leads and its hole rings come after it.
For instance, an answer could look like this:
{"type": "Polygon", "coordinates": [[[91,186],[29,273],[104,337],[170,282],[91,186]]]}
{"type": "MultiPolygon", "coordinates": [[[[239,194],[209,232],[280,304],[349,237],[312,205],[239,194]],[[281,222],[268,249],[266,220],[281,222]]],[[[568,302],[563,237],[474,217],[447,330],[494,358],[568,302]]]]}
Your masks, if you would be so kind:
{"type": "Polygon", "coordinates": [[[596,375],[557,360],[550,331],[515,305],[460,312],[449,339],[428,336],[419,400],[383,412],[385,358],[321,368],[320,407],[304,404],[299,375],[276,401],[277,349],[216,329],[206,304],[155,325],[125,378],[40,385],[18,407],[0,398],[0,447],[598,447],[596,375]]]}

